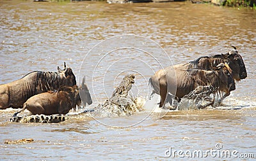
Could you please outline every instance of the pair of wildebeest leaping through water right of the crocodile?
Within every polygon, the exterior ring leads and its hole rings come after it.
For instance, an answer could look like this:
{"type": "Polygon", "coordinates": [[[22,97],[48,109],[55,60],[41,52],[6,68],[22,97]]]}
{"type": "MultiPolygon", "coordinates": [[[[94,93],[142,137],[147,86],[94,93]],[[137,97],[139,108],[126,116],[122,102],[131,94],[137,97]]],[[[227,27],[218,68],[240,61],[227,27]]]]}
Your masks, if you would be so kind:
{"type": "MultiPolygon", "coordinates": [[[[149,83],[154,88],[153,94],[159,94],[161,101],[159,107],[163,107],[167,101],[177,99],[180,101],[184,95],[199,86],[210,85],[216,92],[225,92],[221,98],[230,95],[230,91],[236,89],[235,81],[240,81],[247,77],[243,58],[232,46],[225,54],[213,55],[211,57],[200,57],[186,64],[177,64],[161,69],[151,76],[149,83]],[[172,98],[173,97],[173,98],[172,98]]],[[[213,100],[210,104],[214,104],[213,100]]]]}

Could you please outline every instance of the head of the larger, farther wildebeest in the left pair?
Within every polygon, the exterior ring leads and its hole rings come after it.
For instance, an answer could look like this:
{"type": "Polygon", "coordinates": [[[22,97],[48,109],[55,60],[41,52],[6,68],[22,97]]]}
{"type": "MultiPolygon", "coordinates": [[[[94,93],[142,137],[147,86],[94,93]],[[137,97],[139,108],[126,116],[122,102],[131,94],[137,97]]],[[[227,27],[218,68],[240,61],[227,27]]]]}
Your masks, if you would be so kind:
{"type": "Polygon", "coordinates": [[[60,67],[58,66],[58,72],[65,74],[65,77],[66,77],[65,85],[70,87],[76,85],[76,76],[73,73],[72,69],[66,66],[66,62],[64,62],[63,67],[64,67],[63,69],[60,69],[60,67]]]}

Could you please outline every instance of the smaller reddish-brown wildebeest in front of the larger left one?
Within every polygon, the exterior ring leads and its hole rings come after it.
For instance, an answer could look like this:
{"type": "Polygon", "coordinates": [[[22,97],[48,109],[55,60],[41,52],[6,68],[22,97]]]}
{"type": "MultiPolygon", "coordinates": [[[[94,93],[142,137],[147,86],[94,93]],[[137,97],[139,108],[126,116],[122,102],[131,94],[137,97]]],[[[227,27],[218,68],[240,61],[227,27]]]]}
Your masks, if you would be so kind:
{"type": "Polygon", "coordinates": [[[84,104],[92,104],[92,98],[84,79],[79,87],[77,85],[73,87],[63,86],[59,90],[44,92],[30,97],[24,103],[23,108],[15,113],[13,117],[16,117],[18,113],[25,109],[28,109],[32,115],[67,114],[70,109],[73,108],[76,111],[76,106],[81,106],[81,95],[84,97],[84,104]]]}

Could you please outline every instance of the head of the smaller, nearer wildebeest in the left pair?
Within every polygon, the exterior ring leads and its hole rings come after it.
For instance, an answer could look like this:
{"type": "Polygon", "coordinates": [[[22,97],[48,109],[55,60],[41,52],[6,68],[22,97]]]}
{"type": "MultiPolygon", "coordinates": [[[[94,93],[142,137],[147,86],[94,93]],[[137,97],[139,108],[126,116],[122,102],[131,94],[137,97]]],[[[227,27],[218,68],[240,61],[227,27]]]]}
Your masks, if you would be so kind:
{"type": "Polygon", "coordinates": [[[81,100],[84,103],[84,106],[86,105],[86,103],[89,105],[92,104],[92,97],[89,92],[89,88],[87,87],[87,85],[85,83],[85,78],[83,78],[83,82],[79,86],[79,95],[81,97],[81,100]]]}

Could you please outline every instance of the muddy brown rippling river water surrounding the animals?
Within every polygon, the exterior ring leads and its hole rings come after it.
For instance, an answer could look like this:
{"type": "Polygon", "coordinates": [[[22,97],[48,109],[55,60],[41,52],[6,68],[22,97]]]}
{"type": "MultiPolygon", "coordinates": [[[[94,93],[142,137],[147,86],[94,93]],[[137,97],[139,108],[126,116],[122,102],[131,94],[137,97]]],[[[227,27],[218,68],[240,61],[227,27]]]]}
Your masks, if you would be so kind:
{"type": "MultiPolygon", "coordinates": [[[[217,143],[223,145],[221,150],[254,153],[256,157],[255,11],[189,2],[106,4],[16,0],[0,1],[0,10],[0,84],[31,71],[56,71],[65,61],[77,80],[86,76],[93,97],[93,104],[87,108],[111,94],[125,73],[122,71],[137,73],[134,94],[147,99],[151,92],[147,80],[154,70],[160,69],[156,60],[169,66],[203,55],[225,53],[231,49],[229,45],[235,45],[248,72],[248,77],[237,83],[236,90],[218,109],[173,111],[162,118],[157,109],[149,115],[148,107],[156,106],[156,101],[147,103],[143,111],[132,116],[102,116],[94,120],[88,115],[70,115],[67,121],[52,124],[10,123],[8,120],[17,109],[1,110],[1,160],[170,160],[164,155],[169,148],[216,150],[217,143]],[[109,39],[91,50],[104,39],[125,34],[139,37],[123,36],[124,41],[109,39]],[[147,38],[156,41],[170,59],[147,38]],[[147,44],[155,59],[137,48],[120,48],[143,44],[147,44]],[[118,50],[102,56],[114,49],[118,50]],[[108,70],[106,64],[112,64],[108,70]],[[102,123],[129,127],[115,128],[102,123]],[[25,138],[33,138],[35,142],[4,144],[6,139],[25,138]]],[[[234,157],[204,159],[234,160],[234,157]]]]}

